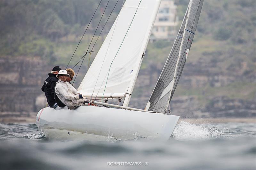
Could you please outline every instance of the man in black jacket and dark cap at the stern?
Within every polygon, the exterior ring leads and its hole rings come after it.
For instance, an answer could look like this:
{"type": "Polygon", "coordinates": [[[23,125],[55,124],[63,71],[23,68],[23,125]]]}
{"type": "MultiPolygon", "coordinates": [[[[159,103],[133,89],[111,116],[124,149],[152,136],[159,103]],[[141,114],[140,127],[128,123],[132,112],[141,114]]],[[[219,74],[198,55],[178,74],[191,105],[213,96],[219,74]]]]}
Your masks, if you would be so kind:
{"type": "Polygon", "coordinates": [[[46,80],[44,81],[44,85],[41,88],[46,96],[48,105],[50,107],[58,106],[54,99],[54,86],[58,81],[58,78],[56,77],[56,75],[59,73],[60,70],[61,70],[60,66],[53,67],[51,73],[48,74],[49,77],[46,78],[46,80]]]}

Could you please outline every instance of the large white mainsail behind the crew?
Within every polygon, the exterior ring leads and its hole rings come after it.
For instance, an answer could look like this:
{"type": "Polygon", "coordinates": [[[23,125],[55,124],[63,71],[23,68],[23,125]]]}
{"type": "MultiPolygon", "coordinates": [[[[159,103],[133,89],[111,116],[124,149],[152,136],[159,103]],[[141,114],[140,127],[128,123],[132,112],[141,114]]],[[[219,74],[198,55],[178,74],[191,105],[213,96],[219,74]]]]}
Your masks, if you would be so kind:
{"type": "Polygon", "coordinates": [[[78,91],[98,98],[132,93],[159,5],[126,0],[78,91]]]}

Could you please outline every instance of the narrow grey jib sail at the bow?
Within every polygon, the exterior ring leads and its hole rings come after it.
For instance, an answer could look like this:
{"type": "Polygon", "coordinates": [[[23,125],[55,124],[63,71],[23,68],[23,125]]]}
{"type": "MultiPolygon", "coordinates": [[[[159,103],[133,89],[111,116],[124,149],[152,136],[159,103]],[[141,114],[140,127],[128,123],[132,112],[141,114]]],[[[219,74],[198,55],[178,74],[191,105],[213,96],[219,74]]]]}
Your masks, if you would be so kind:
{"type": "Polygon", "coordinates": [[[165,113],[172,99],[196,31],[203,0],[191,0],[178,36],[160,74],[146,110],[165,113]]]}

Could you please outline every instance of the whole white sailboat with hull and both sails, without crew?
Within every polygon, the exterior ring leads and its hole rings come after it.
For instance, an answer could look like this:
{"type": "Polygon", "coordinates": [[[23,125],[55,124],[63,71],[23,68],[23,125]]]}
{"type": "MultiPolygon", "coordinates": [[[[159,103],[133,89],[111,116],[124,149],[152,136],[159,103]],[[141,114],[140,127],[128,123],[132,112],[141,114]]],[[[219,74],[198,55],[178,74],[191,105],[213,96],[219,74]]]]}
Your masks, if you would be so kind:
{"type": "Polygon", "coordinates": [[[36,116],[37,127],[49,139],[168,140],[179,120],[179,116],[170,113],[170,101],[187,60],[202,5],[203,0],[189,2],[145,110],[128,105],[160,0],[126,0],[78,87],[91,104],[74,110],[43,108],[36,116]],[[108,99],[124,99],[123,105],[107,103],[108,99]]]}

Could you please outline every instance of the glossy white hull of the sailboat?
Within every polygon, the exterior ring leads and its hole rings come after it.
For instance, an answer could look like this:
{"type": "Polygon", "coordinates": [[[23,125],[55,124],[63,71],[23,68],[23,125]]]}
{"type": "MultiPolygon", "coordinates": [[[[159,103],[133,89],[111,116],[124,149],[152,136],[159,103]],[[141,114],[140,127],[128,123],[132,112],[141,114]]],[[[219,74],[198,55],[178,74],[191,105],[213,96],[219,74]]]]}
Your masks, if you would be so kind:
{"type": "Polygon", "coordinates": [[[176,115],[106,107],[46,107],[38,112],[36,125],[48,139],[106,141],[110,137],[128,140],[142,136],[168,140],[178,120],[176,115]]]}

